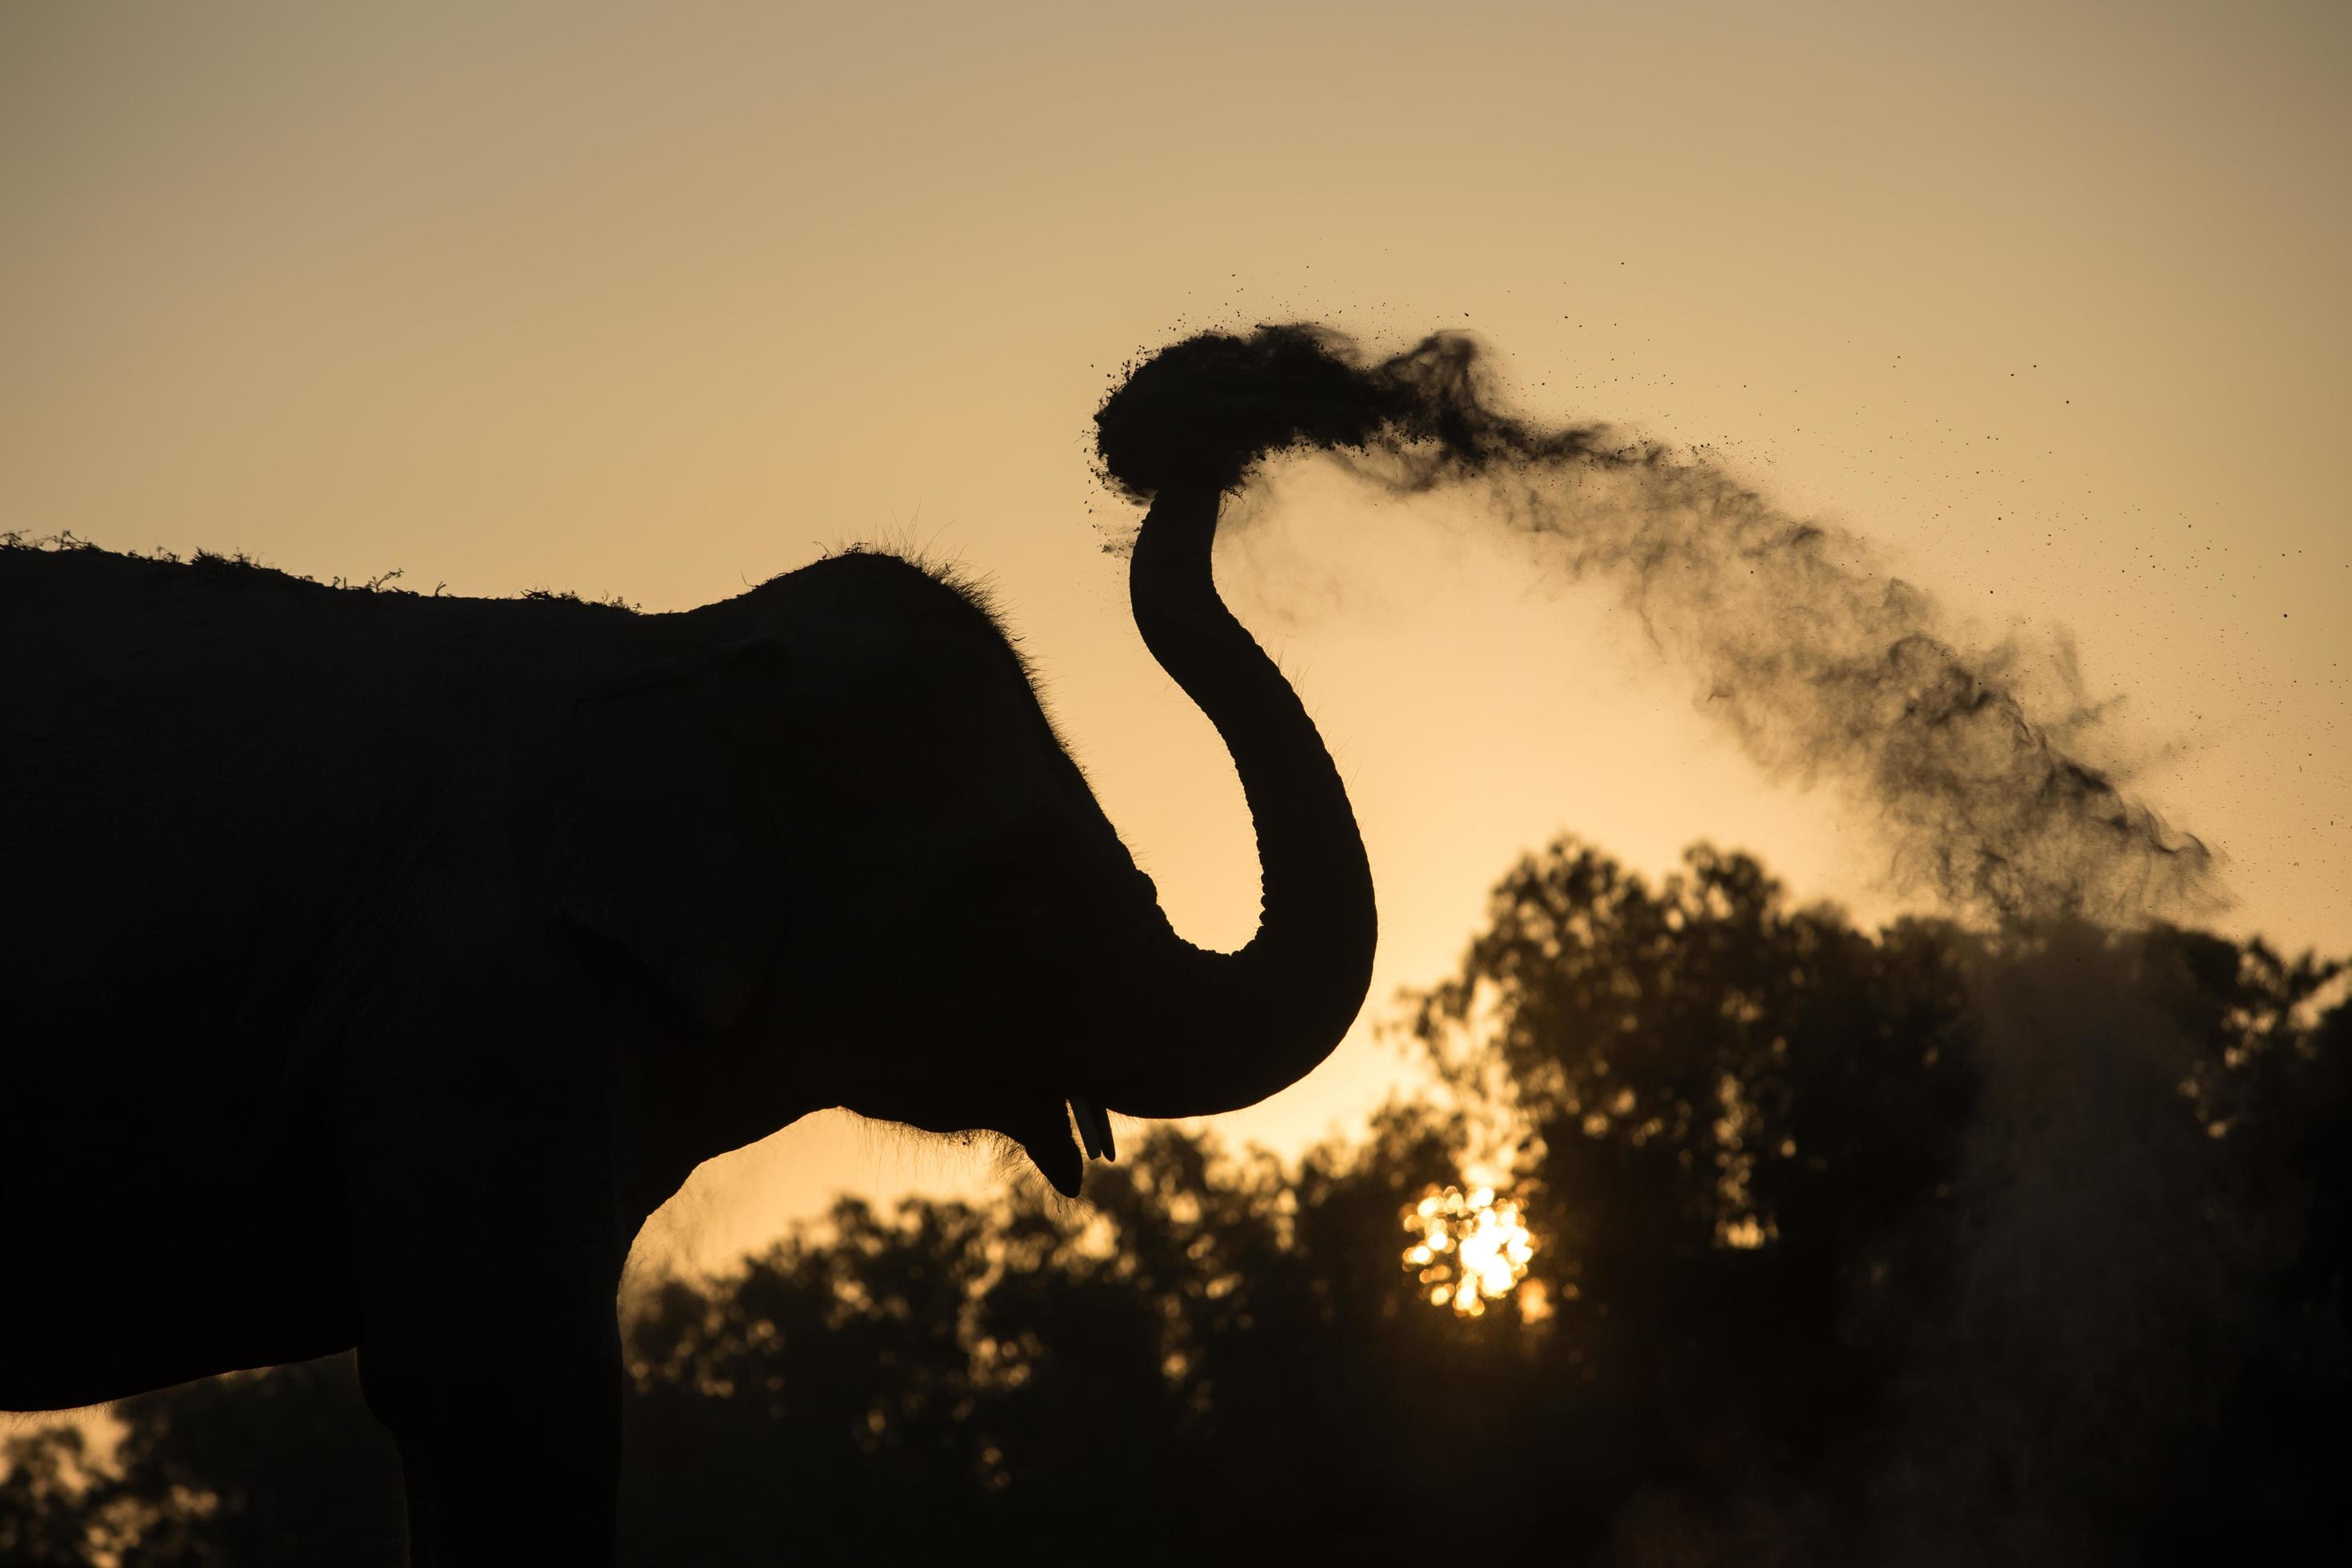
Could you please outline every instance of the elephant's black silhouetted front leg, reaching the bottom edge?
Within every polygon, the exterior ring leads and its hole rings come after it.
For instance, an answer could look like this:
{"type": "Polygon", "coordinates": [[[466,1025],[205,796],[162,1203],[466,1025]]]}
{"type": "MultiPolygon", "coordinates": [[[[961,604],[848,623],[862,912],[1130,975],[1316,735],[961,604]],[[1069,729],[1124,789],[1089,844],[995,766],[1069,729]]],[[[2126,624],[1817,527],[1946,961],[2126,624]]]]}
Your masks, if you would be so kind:
{"type": "Polygon", "coordinates": [[[468,1034],[496,1046],[409,1058],[353,1128],[360,1382],[419,1568],[612,1563],[626,1241],[604,1100],[579,1056],[513,1044],[520,1020],[468,1034]]]}

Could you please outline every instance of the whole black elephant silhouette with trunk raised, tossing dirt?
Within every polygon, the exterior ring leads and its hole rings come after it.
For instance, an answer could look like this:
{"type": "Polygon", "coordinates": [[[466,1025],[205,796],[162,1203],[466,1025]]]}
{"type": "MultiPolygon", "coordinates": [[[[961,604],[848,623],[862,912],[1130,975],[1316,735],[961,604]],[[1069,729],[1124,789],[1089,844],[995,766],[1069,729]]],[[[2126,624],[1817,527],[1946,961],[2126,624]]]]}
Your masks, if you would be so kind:
{"type": "Polygon", "coordinates": [[[0,1408],[355,1349],[412,1561],[609,1563],[619,1276],[696,1164],[849,1107],[1075,1197],[1110,1112],[1301,1079],[1374,886],[1221,501],[1150,498],[1129,597],[1251,811],[1237,952],[887,552],[635,614],[0,550],[0,1408]]]}

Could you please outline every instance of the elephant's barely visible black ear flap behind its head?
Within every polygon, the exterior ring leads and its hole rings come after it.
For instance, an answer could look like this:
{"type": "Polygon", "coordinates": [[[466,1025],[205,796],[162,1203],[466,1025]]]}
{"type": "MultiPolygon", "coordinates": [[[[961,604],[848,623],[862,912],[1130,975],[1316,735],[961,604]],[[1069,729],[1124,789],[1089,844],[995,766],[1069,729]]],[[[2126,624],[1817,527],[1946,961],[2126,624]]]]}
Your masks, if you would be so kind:
{"type": "Polygon", "coordinates": [[[746,642],[583,696],[550,832],[555,912],[595,931],[713,1027],[743,1020],[783,950],[786,867],[757,731],[786,656],[746,642]]]}

